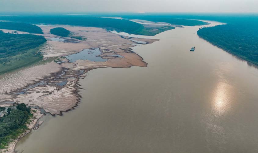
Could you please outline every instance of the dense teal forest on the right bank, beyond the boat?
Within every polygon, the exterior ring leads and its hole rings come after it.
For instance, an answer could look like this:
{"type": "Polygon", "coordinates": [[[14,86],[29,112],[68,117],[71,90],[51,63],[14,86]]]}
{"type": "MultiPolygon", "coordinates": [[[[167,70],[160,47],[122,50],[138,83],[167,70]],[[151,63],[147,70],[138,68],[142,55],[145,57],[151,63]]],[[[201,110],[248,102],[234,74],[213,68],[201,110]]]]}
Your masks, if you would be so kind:
{"type": "Polygon", "coordinates": [[[201,28],[197,34],[210,43],[258,65],[257,27],[244,24],[225,24],[201,28]]]}

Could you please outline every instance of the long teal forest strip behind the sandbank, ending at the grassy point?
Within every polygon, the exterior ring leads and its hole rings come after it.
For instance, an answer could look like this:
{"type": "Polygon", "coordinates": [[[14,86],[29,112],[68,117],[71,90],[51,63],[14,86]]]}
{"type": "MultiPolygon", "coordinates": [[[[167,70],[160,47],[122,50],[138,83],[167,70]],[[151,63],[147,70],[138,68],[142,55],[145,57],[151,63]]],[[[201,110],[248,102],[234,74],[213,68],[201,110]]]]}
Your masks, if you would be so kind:
{"type": "Polygon", "coordinates": [[[111,19],[103,17],[84,17],[84,16],[12,16],[0,17],[1,20],[18,21],[34,24],[65,24],[86,27],[101,27],[118,32],[128,32],[136,34],[144,29],[144,26],[129,20],[111,19]]]}

